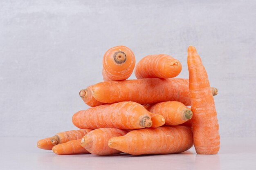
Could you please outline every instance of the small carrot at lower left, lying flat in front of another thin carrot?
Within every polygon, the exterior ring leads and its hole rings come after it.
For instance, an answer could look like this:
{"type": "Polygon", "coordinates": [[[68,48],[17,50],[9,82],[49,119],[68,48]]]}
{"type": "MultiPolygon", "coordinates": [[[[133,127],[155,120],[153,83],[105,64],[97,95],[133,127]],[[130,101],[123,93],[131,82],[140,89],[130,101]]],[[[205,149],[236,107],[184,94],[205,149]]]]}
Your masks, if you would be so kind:
{"type": "Polygon", "coordinates": [[[55,145],[52,151],[57,155],[74,155],[89,153],[85,148],[80,145],[81,139],[68,141],[63,144],[55,145]]]}

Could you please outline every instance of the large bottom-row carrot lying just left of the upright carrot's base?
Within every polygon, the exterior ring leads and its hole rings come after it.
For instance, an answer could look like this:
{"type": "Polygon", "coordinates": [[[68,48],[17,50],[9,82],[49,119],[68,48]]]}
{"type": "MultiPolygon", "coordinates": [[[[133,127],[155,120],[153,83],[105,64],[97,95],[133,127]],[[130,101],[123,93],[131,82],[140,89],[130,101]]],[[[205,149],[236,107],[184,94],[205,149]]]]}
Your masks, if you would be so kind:
{"type": "Polygon", "coordinates": [[[193,133],[186,126],[145,128],[113,137],[108,146],[131,155],[180,153],[193,146],[193,133]]]}

